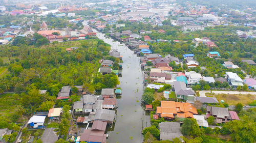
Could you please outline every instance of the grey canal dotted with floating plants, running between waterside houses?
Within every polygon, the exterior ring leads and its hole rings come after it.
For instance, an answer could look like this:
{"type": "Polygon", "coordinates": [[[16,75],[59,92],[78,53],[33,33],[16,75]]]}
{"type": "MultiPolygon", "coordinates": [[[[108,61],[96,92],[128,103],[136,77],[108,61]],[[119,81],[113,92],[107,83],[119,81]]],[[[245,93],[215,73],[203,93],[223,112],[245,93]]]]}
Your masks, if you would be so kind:
{"type": "Polygon", "coordinates": [[[107,39],[104,34],[97,33],[97,37],[105,43],[112,45],[112,49],[117,49],[123,60],[122,77],[119,77],[122,88],[122,97],[117,99],[117,116],[113,131],[109,131],[110,137],[107,142],[115,143],[140,143],[143,141],[141,108],[141,95],[143,94],[143,72],[140,68],[140,60],[124,44],[107,39]]]}

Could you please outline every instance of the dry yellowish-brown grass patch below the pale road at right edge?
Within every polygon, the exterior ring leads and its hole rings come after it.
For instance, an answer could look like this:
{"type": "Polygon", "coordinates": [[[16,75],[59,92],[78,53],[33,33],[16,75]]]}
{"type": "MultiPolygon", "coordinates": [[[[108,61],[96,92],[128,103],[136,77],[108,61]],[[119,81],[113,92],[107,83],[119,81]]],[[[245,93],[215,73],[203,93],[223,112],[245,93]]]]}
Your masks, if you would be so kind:
{"type": "Polygon", "coordinates": [[[237,103],[248,105],[248,103],[256,99],[255,95],[249,95],[249,94],[248,95],[215,94],[212,96],[216,97],[219,102],[221,102],[221,100],[224,100],[229,105],[236,105],[237,103]]]}

